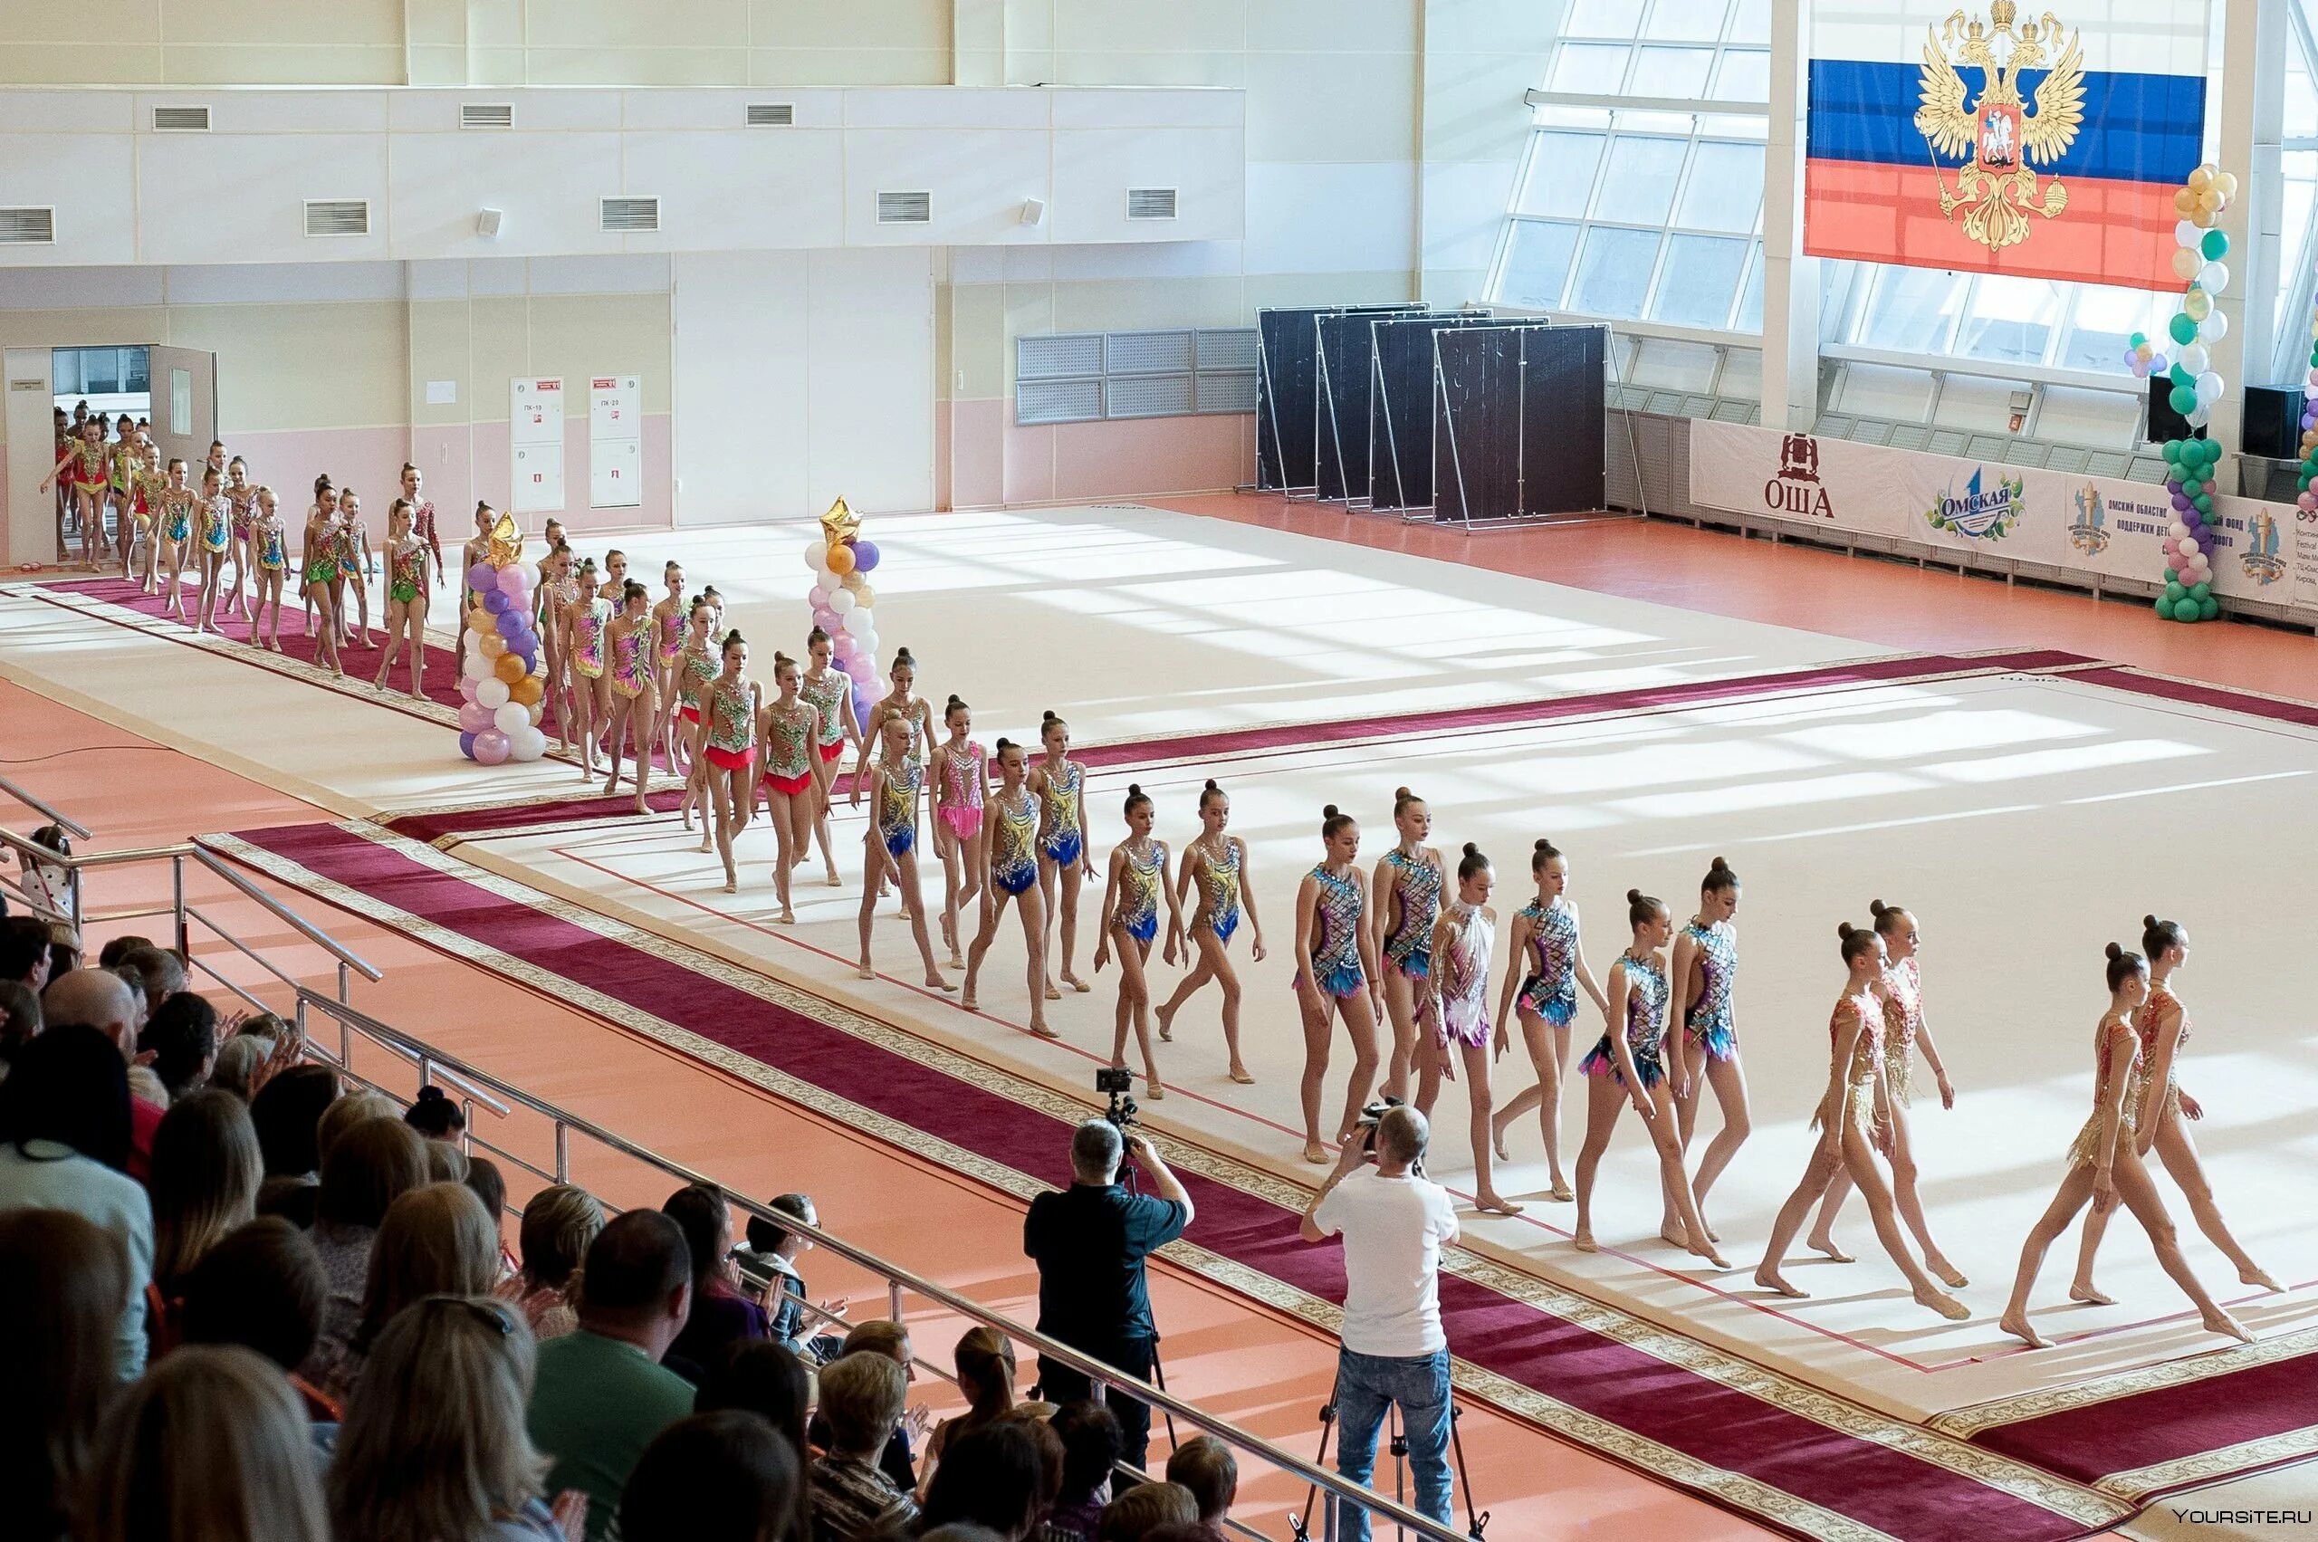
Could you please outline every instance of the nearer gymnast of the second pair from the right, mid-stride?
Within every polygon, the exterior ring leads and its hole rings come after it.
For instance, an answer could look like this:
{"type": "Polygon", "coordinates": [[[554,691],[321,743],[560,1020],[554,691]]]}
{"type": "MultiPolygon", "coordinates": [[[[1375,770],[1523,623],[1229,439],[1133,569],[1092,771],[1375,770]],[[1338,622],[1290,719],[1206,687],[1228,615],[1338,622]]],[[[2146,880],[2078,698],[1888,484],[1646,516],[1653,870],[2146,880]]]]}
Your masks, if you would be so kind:
{"type": "Polygon", "coordinates": [[[1875,1166],[1878,1111],[1889,1101],[1882,1002],[1878,999],[1889,962],[1885,941],[1873,928],[1854,928],[1847,921],[1836,928],[1836,937],[1847,979],[1827,1023],[1827,1092],[1820,1094],[1820,1111],[1810,1120],[1810,1127],[1820,1132],[1820,1143],[1810,1152],[1810,1164],[1803,1166],[1801,1183],[1787,1194],[1787,1203],[1780,1206],[1778,1220],[1771,1224],[1771,1243],[1764,1248],[1762,1264],[1755,1266],[1755,1285],[1780,1296],[1808,1294],[1780,1273],[1787,1264],[1787,1248],[1836,1173],[1850,1171],[1859,1196],[1868,1201],[1868,1215],[1875,1217],[1875,1241],[1908,1278],[1917,1305],[1929,1305],[1949,1322],[1963,1322],[1970,1317],[1970,1308],[1940,1289],[1940,1282],[1924,1273],[1915,1252],[1908,1250],[1908,1234],[1901,1231],[1891,1190],[1885,1185],[1882,1169],[1875,1166]]]}

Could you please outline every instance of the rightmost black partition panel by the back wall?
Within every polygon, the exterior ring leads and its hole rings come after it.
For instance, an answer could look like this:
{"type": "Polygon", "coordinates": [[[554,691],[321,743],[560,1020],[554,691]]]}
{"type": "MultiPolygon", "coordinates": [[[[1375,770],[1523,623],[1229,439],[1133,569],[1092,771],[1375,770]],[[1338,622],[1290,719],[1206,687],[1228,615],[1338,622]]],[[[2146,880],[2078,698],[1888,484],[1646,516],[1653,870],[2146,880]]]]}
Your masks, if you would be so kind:
{"type": "Polygon", "coordinates": [[[1433,339],[1433,517],[1486,524],[1604,505],[1606,327],[1433,339]]]}

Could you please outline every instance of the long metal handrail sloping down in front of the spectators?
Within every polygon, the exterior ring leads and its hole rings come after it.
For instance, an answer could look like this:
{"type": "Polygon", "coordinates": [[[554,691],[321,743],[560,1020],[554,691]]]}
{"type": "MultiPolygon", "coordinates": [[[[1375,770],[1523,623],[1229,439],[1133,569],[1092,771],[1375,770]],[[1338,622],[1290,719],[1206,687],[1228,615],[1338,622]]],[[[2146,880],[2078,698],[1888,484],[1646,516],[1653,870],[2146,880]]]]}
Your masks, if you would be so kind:
{"type": "MultiPolygon", "coordinates": [[[[570,1132],[580,1132],[589,1141],[593,1141],[598,1145],[605,1145],[612,1152],[617,1152],[621,1157],[628,1157],[630,1162],[642,1162],[647,1166],[654,1166],[654,1169],[668,1173],[670,1178],[677,1178],[679,1183],[707,1183],[707,1185],[716,1185],[714,1178],[709,1178],[709,1176],[705,1176],[705,1173],[700,1173],[700,1171],[695,1171],[691,1166],[684,1166],[681,1162],[677,1162],[672,1157],[663,1157],[661,1152],[649,1150],[644,1145],[637,1145],[635,1141],[628,1141],[626,1136],[617,1136],[617,1134],[612,1134],[603,1125],[596,1125],[589,1118],[582,1118],[577,1113],[559,1108],[556,1104],[549,1104],[542,1097],[533,1097],[531,1092],[524,1092],[515,1083],[501,1081],[498,1076],[491,1076],[489,1071],[484,1071],[484,1069],[480,1069],[475,1064],[468,1064],[466,1060],[459,1060],[457,1055],[447,1055],[445,1050],[427,1043],[424,1039],[406,1034],[399,1027],[387,1027],[378,1018],[371,1018],[369,1013],[362,1013],[362,1011],[357,1011],[352,1006],[345,1006],[343,1002],[336,1002],[336,999],[331,999],[331,997],[327,997],[327,995],[322,995],[318,990],[299,985],[297,988],[297,1002],[299,1002],[299,1013],[301,1013],[299,1020],[304,1020],[304,1013],[308,1009],[320,1011],[320,1013],[334,1018],[341,1025],[341,1034],[348,1032],[348,1030],[359,1032],[364,1039],[371,1039],[371,1041],[376,1041],[380,1046],[401,1050],[406,1057],[422,1057],[424,1062],[431,1062],[431,1064],[440,1067],[443,1071],[457,1074],[459,1078],[464,1078],[466,1083],[471,1083],[475,1088],[484,1088],[489,1092],[496,1092],[498,1097],[508,1099],[517,1108],[524,1108],[524,1111],[535,1113],[540,1118],[554,1120],[554,1127],[556,1127],[556,1169],[554,1169],[554,1180],[556,1183],[568,1183],[570,1180],[568,1136],[570,1136],[570,1132]]],[[[531,1169],[531,1171],[538,1171],[538,1169],[531,1169]]],[[[1124,1373],[1124,1370],[1120,1370],[1115,1366],[1108,1366],[1108,1363],[1094,1359],[1092,1354],[1083,1354],[1080,1350],[1073,1350],[1066,1343],[1048,1338],[1048,1336],[1038,1333],[1036,1329],[1027,1329],[1020,1322],[1015,1322],[1015,1319],[1011,1319],[1011,1317],[1006,1317],[1001,1312],[994,1312],[994,1310],[990,1310],[987,1305],[983,1305],[978,1301],[969,1301],[967,1296],[960,1296],[957,1292],[953,1292],[948,1287],[934,1285],[932,1280],[927,1280],[927,1278],[923,1278],[923,1275],[918,1275],[918,1273],[913,1273],[909,1268],[902,1268],[899,1264],[890,1264],[890,1261],[881,1259],[879,1254],[869,1252],[867,1248],[858,1248],[858,1245],[844,1241],[841,1236],[823,1231],[821,1227],[807,1227],[795,1215],[786,1215],[781,1210],[774,1210],[772,1206],[758,1203],[756,1199],[749,1199],[746,1194],[732,1194],[723,1185],[716,1185],[716,1187],[726,1194],[726,1199],[735,1208],[746,1210],[749,1215],[756,1215],[760,1220],[767,1220],[774,1227],[781,1227],[783,1231],[795,1231],[795,1234],[809,1238],[816,1248],[821,1248],[821,1250],[825,1250],[825,1252],[830,1252],[830,1254],[834,1254],[839,1259],[846,1259],[846,1261],[851,1261],[851,1264],[855,1264],[855,1266],[874,1273],[876,1278],[885,1280],[888,1315],[895,1322],[902,1322],[902,1294],[904,1292],[925,1296],[927,1301],[932,1301],[932,1303],[936,1303],[936,1305],[941,1305],[941,1308],[946,1308],[946,1310],[964,1317],[967,1322],[976,1322],[976,1324],[983,1324],[987,1329],[997,1329],[999,1333],[1004,1333],[1013,1343],[1027,1345],[1041,1359],[1050,1359],[1050,1361],[1055,1361],[1059,1366],[1066,1366],[1069,1370],[1076,1370],[1078,1375],[1083,1375],[1089,1382],[1094,1382],[1094,1396],[1096,1398],[1101,1396],[1103,1387],[1117,1387],[1120,1391],[1124,1391],[1127,1396],[1136,1398],[1138,1403],[1145,1403],[1152,1410],[1173,1414],[1175,1419],[1182,1419],[1184,1424],[1189,1424],[1189,1426],[1194,1426],[1194,1428],[1198,1428],[1198,1431],[1203,1431],[1208,1435],[1215,1435],[1224,1445],[1238,1447],[1240,1452],[1247,1452],[1247,1454],[1252,1454],[1252,1456],[1256,1456],[1256,1459],[1261,1459],[1261,1461],[1280,1468],[1282,1472],[1291,1475],[1293,1479],[1312,1484],[1319,1493],[1326,1496],[1326,1503],[1324,1503],[1324,1510],[1321,1510],[1324,1530],[1319,1533],[1324,1537],[1335,1537],[1337,1535],[1337,1505],[1354,1505],[1358,1510],[1365,1510],[1377,1523],[1398,1526],[1402,1533],[1423,1537],[1426,1542],[1463,1542],[1460,1533],[1442,1526],[1439,1521],[1430,1521],[1430,1519],[1416,1514],[1414,1510],[1400,1505],[1398,1500],[1391,1500],[1391,1498],[1377,1493],[1375,1489],[1363,1489],[1358,1484],[1351,1484],[1351,1482],[1342,1479],[1340,1475],[1335,1475],[1335,1472],[1331,1472],[1331,1470],[1326,1470],[1326,1468],[1321,1468],[1321,1465],[1317,1465],[1317,1463],[1312,1463],[1312,1461],[1307,1461],[1303,1456],[1296,1456],[1293,1452],[1286,1452],[1286,1449],[1273,1445],[1270,1440],[1263,1440],[1261,1435],[1242,1431],[1240,1426],[1229,1424],[1226,1419],[1219,1419],[1219,1417],[1205,1412],[1203,1408],[1178,1398],[1171,1391],[1152,1387],[1150,1382],[1145,1382],[1140,1377],[1134,1377],[1134,1375],[1129,1375],[1129,1373],[1124,1373]]]]}

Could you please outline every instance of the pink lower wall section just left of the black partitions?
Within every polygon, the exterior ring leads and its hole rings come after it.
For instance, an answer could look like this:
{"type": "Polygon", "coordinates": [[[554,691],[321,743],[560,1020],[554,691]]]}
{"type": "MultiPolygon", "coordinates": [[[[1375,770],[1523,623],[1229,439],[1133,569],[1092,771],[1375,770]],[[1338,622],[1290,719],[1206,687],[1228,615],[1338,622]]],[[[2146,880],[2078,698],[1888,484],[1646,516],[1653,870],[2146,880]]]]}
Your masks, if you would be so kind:
{"type": "Polygon", "coordinates": [[[943,508],[1078,503],[1138,494],[1215,492],[1254,478],[1256,420],[1131,417],[1022,427],[1004,401],[946,401],[943,508]]]}

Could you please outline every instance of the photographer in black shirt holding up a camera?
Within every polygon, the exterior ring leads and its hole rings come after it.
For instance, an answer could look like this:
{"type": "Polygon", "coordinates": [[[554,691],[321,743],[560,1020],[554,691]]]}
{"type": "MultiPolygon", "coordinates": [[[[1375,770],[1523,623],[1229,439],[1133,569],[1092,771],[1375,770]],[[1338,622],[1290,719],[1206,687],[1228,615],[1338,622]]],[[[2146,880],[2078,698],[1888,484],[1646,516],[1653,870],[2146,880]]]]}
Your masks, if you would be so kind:
{"type": "MultiPolygon", "coordinates": [[[[1087,1120],[1071,1136],[1071,1187],[1038,1194],[1022,1220],[1022,1252],[1038,1264],[1038,1331],[1083,1354],[1152,1380],[1159,1326],[1143,1282],[1143,1259],[1191,1224],[1191,1196],[1140,1134],[1122,1136],[1108,1120],[1087,1120]],[[1150,1176],[1150,1194],[1120,1187],[1120,1162],[1131,1157],[1150,1176]]],[[[1087,1377],[1038,1356],[1038,1387],[1048,1403],[1078,1403],[1087,1377]]],[[[1120,1419],[1120,1459],[1143,1468],[1150,1447],[1150,1405],[1113,1387],[1120,1419]]]]}

